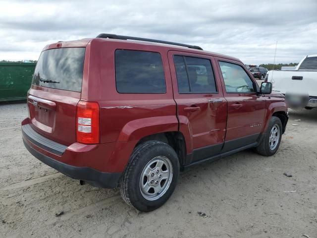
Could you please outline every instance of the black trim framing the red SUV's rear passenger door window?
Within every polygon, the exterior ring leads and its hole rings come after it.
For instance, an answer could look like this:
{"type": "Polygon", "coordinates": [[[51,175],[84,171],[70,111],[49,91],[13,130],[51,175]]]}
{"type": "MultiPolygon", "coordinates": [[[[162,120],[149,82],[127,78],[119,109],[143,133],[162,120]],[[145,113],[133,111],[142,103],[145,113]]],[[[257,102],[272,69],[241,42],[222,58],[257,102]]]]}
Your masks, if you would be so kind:
{"type": "Polygon", "coordinates": [[[191,55],[173,54],[173,64],[174,64],[174,68],[175,68],[175,76],[176,76],[178,94],[219,94],[218,85],[217,85],[217,81],[216,81],[215,74],[214,74],[214,69],[213,69],[212,62],[211,62],[211,59],[210,59],[210,58],[203,58],[203,57],[197,57],[197,56],[191,56],[191,55]],[[214,85],[215,85],[215,90],[216,90],[216,91],[215,91],[215,92],[209,92],[209,91],[207,91],[207,92],[195,92],[195,91],[194,91],[194,92],[193,92],[193,91],[190,91],[190,92],[179,92],[179,90],[178,90],[177,71],[176,71],[176,67],[175,67],[174,56],[180,56],[180,57],[182,57],[183,60],[184,60],[189,90],[191,90],[191,85],[190,85],[190,78],[189,78],[189,73],[188,73],[188,68],[187,68],[187,63],[186,63],[185,57],[197,58],[197,59],[202,59],[202,60],[209,60],[210,65],[211,65],[211,70],[212,70],[212,75],[213,75],[213,80],[214,80],[214,85]]]}

